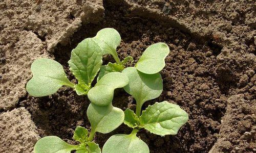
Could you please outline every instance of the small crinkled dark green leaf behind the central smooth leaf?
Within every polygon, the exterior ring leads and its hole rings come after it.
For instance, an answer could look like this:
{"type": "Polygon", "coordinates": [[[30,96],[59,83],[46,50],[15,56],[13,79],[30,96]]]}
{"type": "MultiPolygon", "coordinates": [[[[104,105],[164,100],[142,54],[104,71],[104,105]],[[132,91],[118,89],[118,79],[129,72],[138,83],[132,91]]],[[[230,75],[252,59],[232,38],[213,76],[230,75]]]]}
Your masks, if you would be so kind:
{"type": "Polygon", "coordinates": [[[108,65],[102,65],[100,67],[99,75],[97,81],[99,81],[105,74],[110,72],[121,72],[124,69],[123,65],[111,63],[109,62],[108,65]]]}

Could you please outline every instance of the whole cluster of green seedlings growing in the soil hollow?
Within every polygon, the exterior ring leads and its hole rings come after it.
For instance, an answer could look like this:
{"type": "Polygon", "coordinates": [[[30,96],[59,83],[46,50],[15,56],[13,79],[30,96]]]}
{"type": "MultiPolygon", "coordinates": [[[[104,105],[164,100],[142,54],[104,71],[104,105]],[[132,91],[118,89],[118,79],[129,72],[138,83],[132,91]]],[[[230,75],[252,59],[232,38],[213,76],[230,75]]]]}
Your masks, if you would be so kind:
{"type": "Polygon", "coordinates": [[[35,97],[55,93],[61,86],[73,88],[78,95],[87,95],[91,104],[87,117],[91,123],[90,134],[84,127],[78,126],[74,140],[79,145],[70,145],[56,136],[47,136],[37,141],[35,153],[41,152],[101,152],[99,145],[93,142],[96,132],[110,133],[122,123],[133,128],[130,135],[113,135],[105,142],[102,152],[150,152],[147,144],[136,134],[141,129],[156,135],[176,135],[180,127],[188,120],[187,113],[178,105],[162,101],[148,106],[141,112],[145,101],[155,99],[163,91],[163,81],[159,73],[165,66],[164,59],[169,54],[165,43],[156,43],[147,47],[134,67],[125,67],[132,57],[123,61],[118,58],[116,48],[121,42],[119,33],[112,28],[100,30],[93,38],[81,41],[72,50],[69,66],[77,79],[70,82],[61,64],[40,58],[31,65],[33,78],[27,84],[27,91],[35,97]],[[116,63],[102,65],[102,56],[111,54],[116,63]],[[92,82],[98,74],[97,83],[92,82]],[[112,105],[114,90],[124,88],[136,100],[136,112],[127,108],[122,111],[112,105]]]}

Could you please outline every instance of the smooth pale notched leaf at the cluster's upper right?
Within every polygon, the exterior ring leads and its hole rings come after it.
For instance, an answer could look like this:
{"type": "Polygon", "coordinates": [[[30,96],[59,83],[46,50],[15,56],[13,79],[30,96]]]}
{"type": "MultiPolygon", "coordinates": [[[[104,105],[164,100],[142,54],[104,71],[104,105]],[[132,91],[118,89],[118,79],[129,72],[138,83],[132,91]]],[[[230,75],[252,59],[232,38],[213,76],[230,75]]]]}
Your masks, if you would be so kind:
{"type": "Polygon", "coordinates": [[[165,66],[164,59],[169,52],[169,47],[165,43],[155,43],[146,48],[135,67],[146,74],[160,72],[165,66]]]}

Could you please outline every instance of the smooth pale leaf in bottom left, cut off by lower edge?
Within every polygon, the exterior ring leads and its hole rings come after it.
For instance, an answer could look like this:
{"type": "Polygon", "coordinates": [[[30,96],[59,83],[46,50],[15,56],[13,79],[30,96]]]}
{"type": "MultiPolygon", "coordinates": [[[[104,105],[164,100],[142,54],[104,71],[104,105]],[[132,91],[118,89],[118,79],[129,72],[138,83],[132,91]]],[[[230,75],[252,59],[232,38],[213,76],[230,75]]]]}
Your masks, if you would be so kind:
{"type": "Polygon", "coordinates": [[[34,146],[35,153],[70,153],[78,146],[70,145],[56,136],[48,136],[38,140],[34,146]]]}

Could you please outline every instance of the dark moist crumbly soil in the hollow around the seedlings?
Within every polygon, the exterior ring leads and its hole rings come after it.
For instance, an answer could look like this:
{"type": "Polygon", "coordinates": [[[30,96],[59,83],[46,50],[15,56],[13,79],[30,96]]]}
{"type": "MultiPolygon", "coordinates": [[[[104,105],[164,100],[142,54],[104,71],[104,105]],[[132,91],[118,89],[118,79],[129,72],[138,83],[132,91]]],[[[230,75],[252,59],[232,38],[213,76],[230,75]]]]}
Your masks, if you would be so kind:
{"type": "MultiPolygon", "coordinates": [[[[148,101],[143,109],[155,101],[167,100],[178,104],[189,114],[189,121],[175,136],[157,136],[142,130],[138,136],[147,143],[151,152],[208,152],[217,141],[221,117],[225,113],[226,84],[217,81],[216,56],[221,47],[211,42],[199,43],[189,34],[170,28],[161,22],[140,17],[125,17],[127,8],[123,5],[104,4],[105,16],[98,24],[82,25],[73,35],[70,45],[58,45],[54,56],[67,71],[69,79],[75,82],[68,69],[72,48],[81,40],[93,37],[102,28],[115,28],[122,42],[118,55],[122,60],[132,56],[135,63],[146,47],[153,43],[165,42],[170,48],[166,66],[160,72],[164,89],[157,99],[148,101]]],[[[114,62],[105,56],[104,64],[114,62]]],[[[77,125],[90,129],[86,110],[90,102],[87,96],[78,96],[70,88],[63,87],[49,97],[28,97],[20,101],[32,114],[40,136],[56,135],[70,143],[77,125]]],[[[135,100],[122,89],[115,91],[113,105],[125,110],[135,110],[135,100]]],[[[96,134],[95,141],[100,147],[113,134],[129,134],[129,127],[121,125],[110,134],[96,134]]]]}

